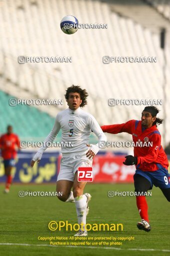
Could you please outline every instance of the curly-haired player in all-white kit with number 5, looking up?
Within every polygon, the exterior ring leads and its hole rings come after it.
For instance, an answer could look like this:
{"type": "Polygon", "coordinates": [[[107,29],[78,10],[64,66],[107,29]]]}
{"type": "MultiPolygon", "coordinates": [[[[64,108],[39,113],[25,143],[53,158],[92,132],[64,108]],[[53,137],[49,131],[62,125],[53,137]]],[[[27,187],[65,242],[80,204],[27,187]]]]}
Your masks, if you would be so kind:
{"type": "MultiPolygon", "coordinates": [[[[80,107],[87,104],[86,98],[88,94],[85,89],[72,85],[67,88],[64,96],[68,109],[56,115],[53,129],[44,142],[53,142],[61,129],[63,145],[69,142],[73,145],[73,147],[61,147],[62,159],[56,182],[56,191],[59,200],[75,202],[78,224],[83,223],[84,227],[91,195],[88,193],[83,194],[86,182],[77,181],[77,169],[78,167],[92,166],[92,158],[99,150],[98,143],[96,145],[88,145],[91,130],[97,136],[98,141],[106,141],[106,137],[95,118],[80,109],[80,107]],[[62,196],[59,196],[58,192],[62,192],[62,196]]],[[[37,151],[32,158],[31,167],[33,167],[36,160],[39,163],[46,148],[44,146],[37,151]]],[[[75,235],[86,236],[87,231],[83,228],[75,235]]]]}

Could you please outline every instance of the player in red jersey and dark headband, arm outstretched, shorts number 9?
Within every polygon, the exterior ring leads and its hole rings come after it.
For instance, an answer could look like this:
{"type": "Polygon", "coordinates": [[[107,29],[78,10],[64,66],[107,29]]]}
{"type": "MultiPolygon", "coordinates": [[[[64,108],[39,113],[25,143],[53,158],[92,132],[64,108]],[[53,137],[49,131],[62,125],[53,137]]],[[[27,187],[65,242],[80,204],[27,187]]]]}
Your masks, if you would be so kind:
{"type": "MultiPolygon", "coordinates": [[[[110,134],[128,133],[136,142],[152,142],[152,146],[134,147],[134,156],[126,156],[124,165],[135,165],[136,171],[133,176],[135,192],[145,193],[152,186],[159,187],[170,202],[170,175],[168,174],[168,161],[161,146],[161,136],[157,130],[157,124],[162,119],[156,117],[159,110],[154,106],[146,106],[141,113],[141,121],[130,120],[122,124],[103,125],[103,132],[110,134]]],[[[144,145],[144,143],[143,143],[144,145]]],[[[136,204],[141,217],[137,222],[138,229],[150,231],[147,202],[145,196],[137,195],[136,204]]]]}

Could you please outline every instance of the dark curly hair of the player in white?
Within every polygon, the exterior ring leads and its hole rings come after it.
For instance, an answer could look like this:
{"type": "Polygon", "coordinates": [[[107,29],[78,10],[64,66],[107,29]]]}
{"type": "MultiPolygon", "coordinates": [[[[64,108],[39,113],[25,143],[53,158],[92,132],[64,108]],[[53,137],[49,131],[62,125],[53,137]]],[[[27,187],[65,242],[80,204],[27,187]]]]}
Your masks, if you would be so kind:
{"type": "Polygon", "coordinates": [[[68,96],[70,92],[77,92],[80,95],[80,99],[82,100],[80,107],[84,107],[87,104],[86,98],[88,97],[88,93],[85,89],[81,89],[78,85],[72,85],[66,89],[66,93],[64,94],[65,99],[68,100],[68,96]]]}

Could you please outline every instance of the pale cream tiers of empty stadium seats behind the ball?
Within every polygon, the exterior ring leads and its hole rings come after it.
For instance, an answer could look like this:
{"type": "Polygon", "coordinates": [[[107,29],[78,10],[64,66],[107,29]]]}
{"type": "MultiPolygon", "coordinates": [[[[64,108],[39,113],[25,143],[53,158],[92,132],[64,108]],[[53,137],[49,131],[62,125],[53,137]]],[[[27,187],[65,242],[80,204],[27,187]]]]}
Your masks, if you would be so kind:
{"type": "MultiPolygon", "coordinates": [[[[13,96],[20,98],[29,95],[52,99],[63,98],[66,87],[79,84],[89,94],[84,110],[93,114],[100,124],[121,123],[132,116],[140,118],[143,106],[108,108],[107,99],[125,96],[126,99],[163,100],[164,59],[159,34],[127,16],[120,16],[112,6],[110,1],[92,0],[11,0],[10,5],[0,0],[0,89],[6,93],[12,91],[13,96]],[[77,17],[79,23],[108,24],[108,28],[80,29],[74,35],[64,35],[59,23],[68,13],[77,17]],[[71,56],[72,63],[19,65],[16,64],[19,55],[71,56]],[[102,64],[102,56],[107,55],[156,56],[157,62],[102,64]]],[[[170,54],[168,45],[165,53],[170,54]]],[[[169,58],[166,61],[166,80],[169,81],[169,58]]],[[[166,93],[169,92],[167,84],[166,93]]],[[[167,141],[170,117],[168,103],[164,104],[161,116],[166,117],[166,123],[160,131],[166,131],[164,140],[167,141]]],[[[54,117],[65,106],[66,103],[45,111],[54,117]]],[[[159,108],[162,110],[162,106],[159,108]]],[[[126,139],[126,135],[123,138],[126,139]]]]}

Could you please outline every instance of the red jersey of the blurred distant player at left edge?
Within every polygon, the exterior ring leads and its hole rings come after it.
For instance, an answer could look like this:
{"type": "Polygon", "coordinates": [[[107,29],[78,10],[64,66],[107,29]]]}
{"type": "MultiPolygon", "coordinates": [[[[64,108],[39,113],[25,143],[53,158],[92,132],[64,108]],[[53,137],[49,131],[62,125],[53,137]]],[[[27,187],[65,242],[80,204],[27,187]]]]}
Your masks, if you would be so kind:
{"type": "Polygon", "coordinates": [[[1,156],[4,160],[16,157],[16,146],[19,146],[19,139],[15,134],[3,134],[0,137],[1,156]]]}

